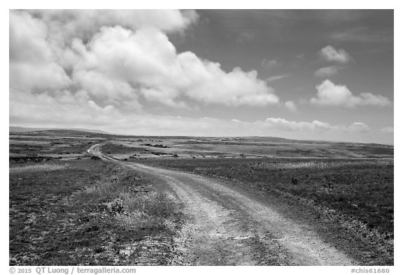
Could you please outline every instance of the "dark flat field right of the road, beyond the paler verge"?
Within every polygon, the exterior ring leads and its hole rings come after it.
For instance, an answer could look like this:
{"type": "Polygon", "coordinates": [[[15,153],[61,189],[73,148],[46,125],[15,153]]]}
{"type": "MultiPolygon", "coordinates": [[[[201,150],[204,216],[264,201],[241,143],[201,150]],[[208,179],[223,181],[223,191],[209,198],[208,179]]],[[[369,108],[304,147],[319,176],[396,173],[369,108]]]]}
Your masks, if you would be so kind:
{"type": "Polygon", "coordinates": [[[227,178],[245,188],[285,192],[355,216],[393,236],[393,160],[149,161],[170,169],[227,178]]]}

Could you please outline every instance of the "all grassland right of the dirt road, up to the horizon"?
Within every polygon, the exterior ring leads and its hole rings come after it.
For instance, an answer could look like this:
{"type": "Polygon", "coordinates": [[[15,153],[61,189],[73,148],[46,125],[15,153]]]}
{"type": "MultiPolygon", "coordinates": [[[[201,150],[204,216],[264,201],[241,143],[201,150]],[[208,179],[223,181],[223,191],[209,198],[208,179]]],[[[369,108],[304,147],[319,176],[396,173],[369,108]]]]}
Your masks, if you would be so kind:
{"type": "Polygon", "coordinates": [[[116,139],[103,150],[121,160],[219,178],[284,216],[309,221],[324,239],[367,265],[393,265],[393,146],[150,137],[116,139]]]}

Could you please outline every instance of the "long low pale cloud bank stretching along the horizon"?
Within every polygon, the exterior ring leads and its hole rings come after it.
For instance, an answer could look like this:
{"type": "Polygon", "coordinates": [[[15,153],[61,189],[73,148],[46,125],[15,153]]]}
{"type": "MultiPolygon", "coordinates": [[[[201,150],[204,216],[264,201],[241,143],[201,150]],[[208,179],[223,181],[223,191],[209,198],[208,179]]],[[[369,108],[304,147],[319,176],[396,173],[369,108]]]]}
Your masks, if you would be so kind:
{"type": "Polygon", "coordinates": [[[13,90],[10,94],[10,124],[48,127],[99,127],[122,134],[189,134],[205,136],[285,136],[304,138],[312,133],[362,133],[371,129],[362,122],[352,125],[330,125],[320,120],[297,122],[284,118],[267,118],[245,122],[217,118],[181,118],[167,115],[136,113],[125,115],[113,105],[99,106],[87,92],[58,91],[58,97],[49,93],[27,94],[13,90]]]}

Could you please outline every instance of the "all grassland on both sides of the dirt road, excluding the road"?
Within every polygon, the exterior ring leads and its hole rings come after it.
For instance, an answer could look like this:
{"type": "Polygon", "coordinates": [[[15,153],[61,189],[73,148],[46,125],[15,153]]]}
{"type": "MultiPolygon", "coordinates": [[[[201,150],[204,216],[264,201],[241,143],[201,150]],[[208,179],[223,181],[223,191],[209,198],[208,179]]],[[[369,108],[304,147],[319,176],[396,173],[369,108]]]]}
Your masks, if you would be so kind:
{"type": "Polygon", "coordinates": [[[169,265],[181,208],[157,178],[99,160],[219,178],[308,222],[367,265],[393,265],[393,146],[276,138],[10,134],[10,265],[169,265]]]}

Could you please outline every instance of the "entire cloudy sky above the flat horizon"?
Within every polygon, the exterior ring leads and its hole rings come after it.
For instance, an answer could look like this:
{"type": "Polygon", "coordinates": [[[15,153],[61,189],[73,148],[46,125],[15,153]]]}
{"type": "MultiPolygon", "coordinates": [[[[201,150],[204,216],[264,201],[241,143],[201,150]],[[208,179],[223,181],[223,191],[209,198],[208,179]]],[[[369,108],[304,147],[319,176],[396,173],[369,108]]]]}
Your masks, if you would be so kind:
{"type": "Polygon", "coordinates": [[[9,124],[393,143],[393,10],[10,10],[9,124]]]}

